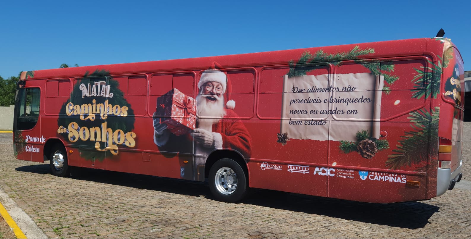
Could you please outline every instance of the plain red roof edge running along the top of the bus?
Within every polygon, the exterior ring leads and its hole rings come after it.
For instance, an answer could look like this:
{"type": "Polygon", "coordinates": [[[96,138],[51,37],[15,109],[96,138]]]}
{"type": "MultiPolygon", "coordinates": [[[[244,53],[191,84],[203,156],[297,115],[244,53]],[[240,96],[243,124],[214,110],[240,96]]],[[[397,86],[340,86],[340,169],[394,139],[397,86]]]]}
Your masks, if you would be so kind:
{"type": "MultiPolygon", "coordinates": [[[[349,52],[354,47],[359,49],[374,49],[374,53],[366,56],[359,56],[358,59],[374,59],[382,57],[394,57],[404,55],[433,55],[443,53],[443,42],[445,38],[421,38],[421,39],[403,39],[381,42],[359,43],[339,46],[320,46],[310,48],[300,48],[291,50],[269,51],[248,54],[234,54],[209,56],[198,58],[186,58],[175,60],[161,60],[150,62],[133,62],[109,65],[95,65],[83,67],[70,67],[58,69],[35,70],[33,74],[22,73],[22,79],[34,78],[62,78],[62,77],[82,77],[87,72],[93,73],[96,70],[106,70],[110,75],[121,75],[131,73],[155,73],[155,72],[173,72],[181,70],[204,70],[213,62],[218,62],[224,68],[240,67],[260,67],[268,65],[287,65],[289,61],[296,60],[304,52],[311,54],[322,50],[324,53],[349,52]],[[441,49],[440,49],[440,45],[441,49]],[[28,76],[26,76],[28,75],[28,76]],[[25,77],[26,76],[26,77],[25,77]]],[[[449,39],[448,39],[449,40],[449,39]]],[[[348,60],[348,59],[344,59],[348,60]]],[[[30,72],[30,71],[28,71],[30,72]]]]}

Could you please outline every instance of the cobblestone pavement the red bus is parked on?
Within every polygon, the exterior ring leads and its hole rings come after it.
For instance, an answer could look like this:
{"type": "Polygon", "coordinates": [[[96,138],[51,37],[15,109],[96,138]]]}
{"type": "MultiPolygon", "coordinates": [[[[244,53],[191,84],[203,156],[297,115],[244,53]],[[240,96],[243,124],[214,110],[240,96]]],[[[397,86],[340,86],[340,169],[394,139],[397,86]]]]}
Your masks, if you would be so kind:
{"type": "MultiPolygon", "coordinates": [[[[49,174],[16,160],[0,134],[0,186],[50,238],[470,238],[471,188],[426,201],[371,204],[257,190],[242,203],[208,185],[101,170],[49,174]]],[[[471,123],[465,123],[469,183],[471,123]]],[[[468,184],[469,185],[469,184],[468,184]]]]}

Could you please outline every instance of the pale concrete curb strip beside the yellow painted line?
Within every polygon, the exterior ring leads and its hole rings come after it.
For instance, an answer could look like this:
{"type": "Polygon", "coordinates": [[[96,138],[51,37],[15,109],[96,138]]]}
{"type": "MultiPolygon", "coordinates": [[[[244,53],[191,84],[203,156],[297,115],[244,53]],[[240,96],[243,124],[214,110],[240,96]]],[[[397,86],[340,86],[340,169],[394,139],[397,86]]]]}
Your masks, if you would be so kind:
{"type": "MultiPolygon", "coordinates": [[[[43,239],[48,238],[46,234],[34,223],[30,216],[28,216],[23,209],[16,205],[5,191],[0,187],[0,203],[8,211],[8,214],[16,222],[19,229],[24,233],[26,238],[30,239],[43,239]]],[[[16,234],[16,233],[15,233],[16,234]]],[[[16,235],[18,237],[18,235],[16,235]]],[[[18,237],[20,238],[20,237],[18,237]]]]}

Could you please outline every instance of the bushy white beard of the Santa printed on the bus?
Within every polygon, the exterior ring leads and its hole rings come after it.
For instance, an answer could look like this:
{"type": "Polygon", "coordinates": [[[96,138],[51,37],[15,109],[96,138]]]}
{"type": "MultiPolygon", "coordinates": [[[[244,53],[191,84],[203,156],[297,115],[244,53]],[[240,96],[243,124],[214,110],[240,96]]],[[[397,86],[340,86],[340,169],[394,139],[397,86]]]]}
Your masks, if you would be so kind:
{"type": "MultiPolygon", "coordinates": [[[[196,113],[200,117],[211,117],[211,119],[204,119],[205,122],[218,123],[226,115],[224,97],[222,95],[198,94],[196,96],[196,113]],[[207,96],[212,96],[216,100],[208,100],[207,96]]],[[[203,119],[198,119],[197,121],[200,122],[201,120],[203,119]]]]}

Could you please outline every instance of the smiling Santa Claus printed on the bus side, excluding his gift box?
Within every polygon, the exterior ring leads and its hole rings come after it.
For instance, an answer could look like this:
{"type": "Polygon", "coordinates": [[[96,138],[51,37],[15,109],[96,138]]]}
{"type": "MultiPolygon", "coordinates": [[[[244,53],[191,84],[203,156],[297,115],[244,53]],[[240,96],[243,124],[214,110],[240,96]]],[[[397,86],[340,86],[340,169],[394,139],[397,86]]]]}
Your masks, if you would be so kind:
{"type": "MultiPolygon", "coordinates": [[[[235,101],[229,99],[231,82],[215,63],[213,69],[203,71],[196,97],[196,127],[187,135],[176,136],[167,130],[154,114],[154,143],[160,151],[182,152],[192,148],[194,141],[195,167],[204,165],[206,156],[216,149],[229,149],[250,157],[252,139],[233,111],[235,101]]],[[[189,152],[187,152],[189,153],[189,152]]],[[[181,177],[192,165],[182,165],[181,177]],[[187,167],[187,169],[185,168],[187,167]]]]}

